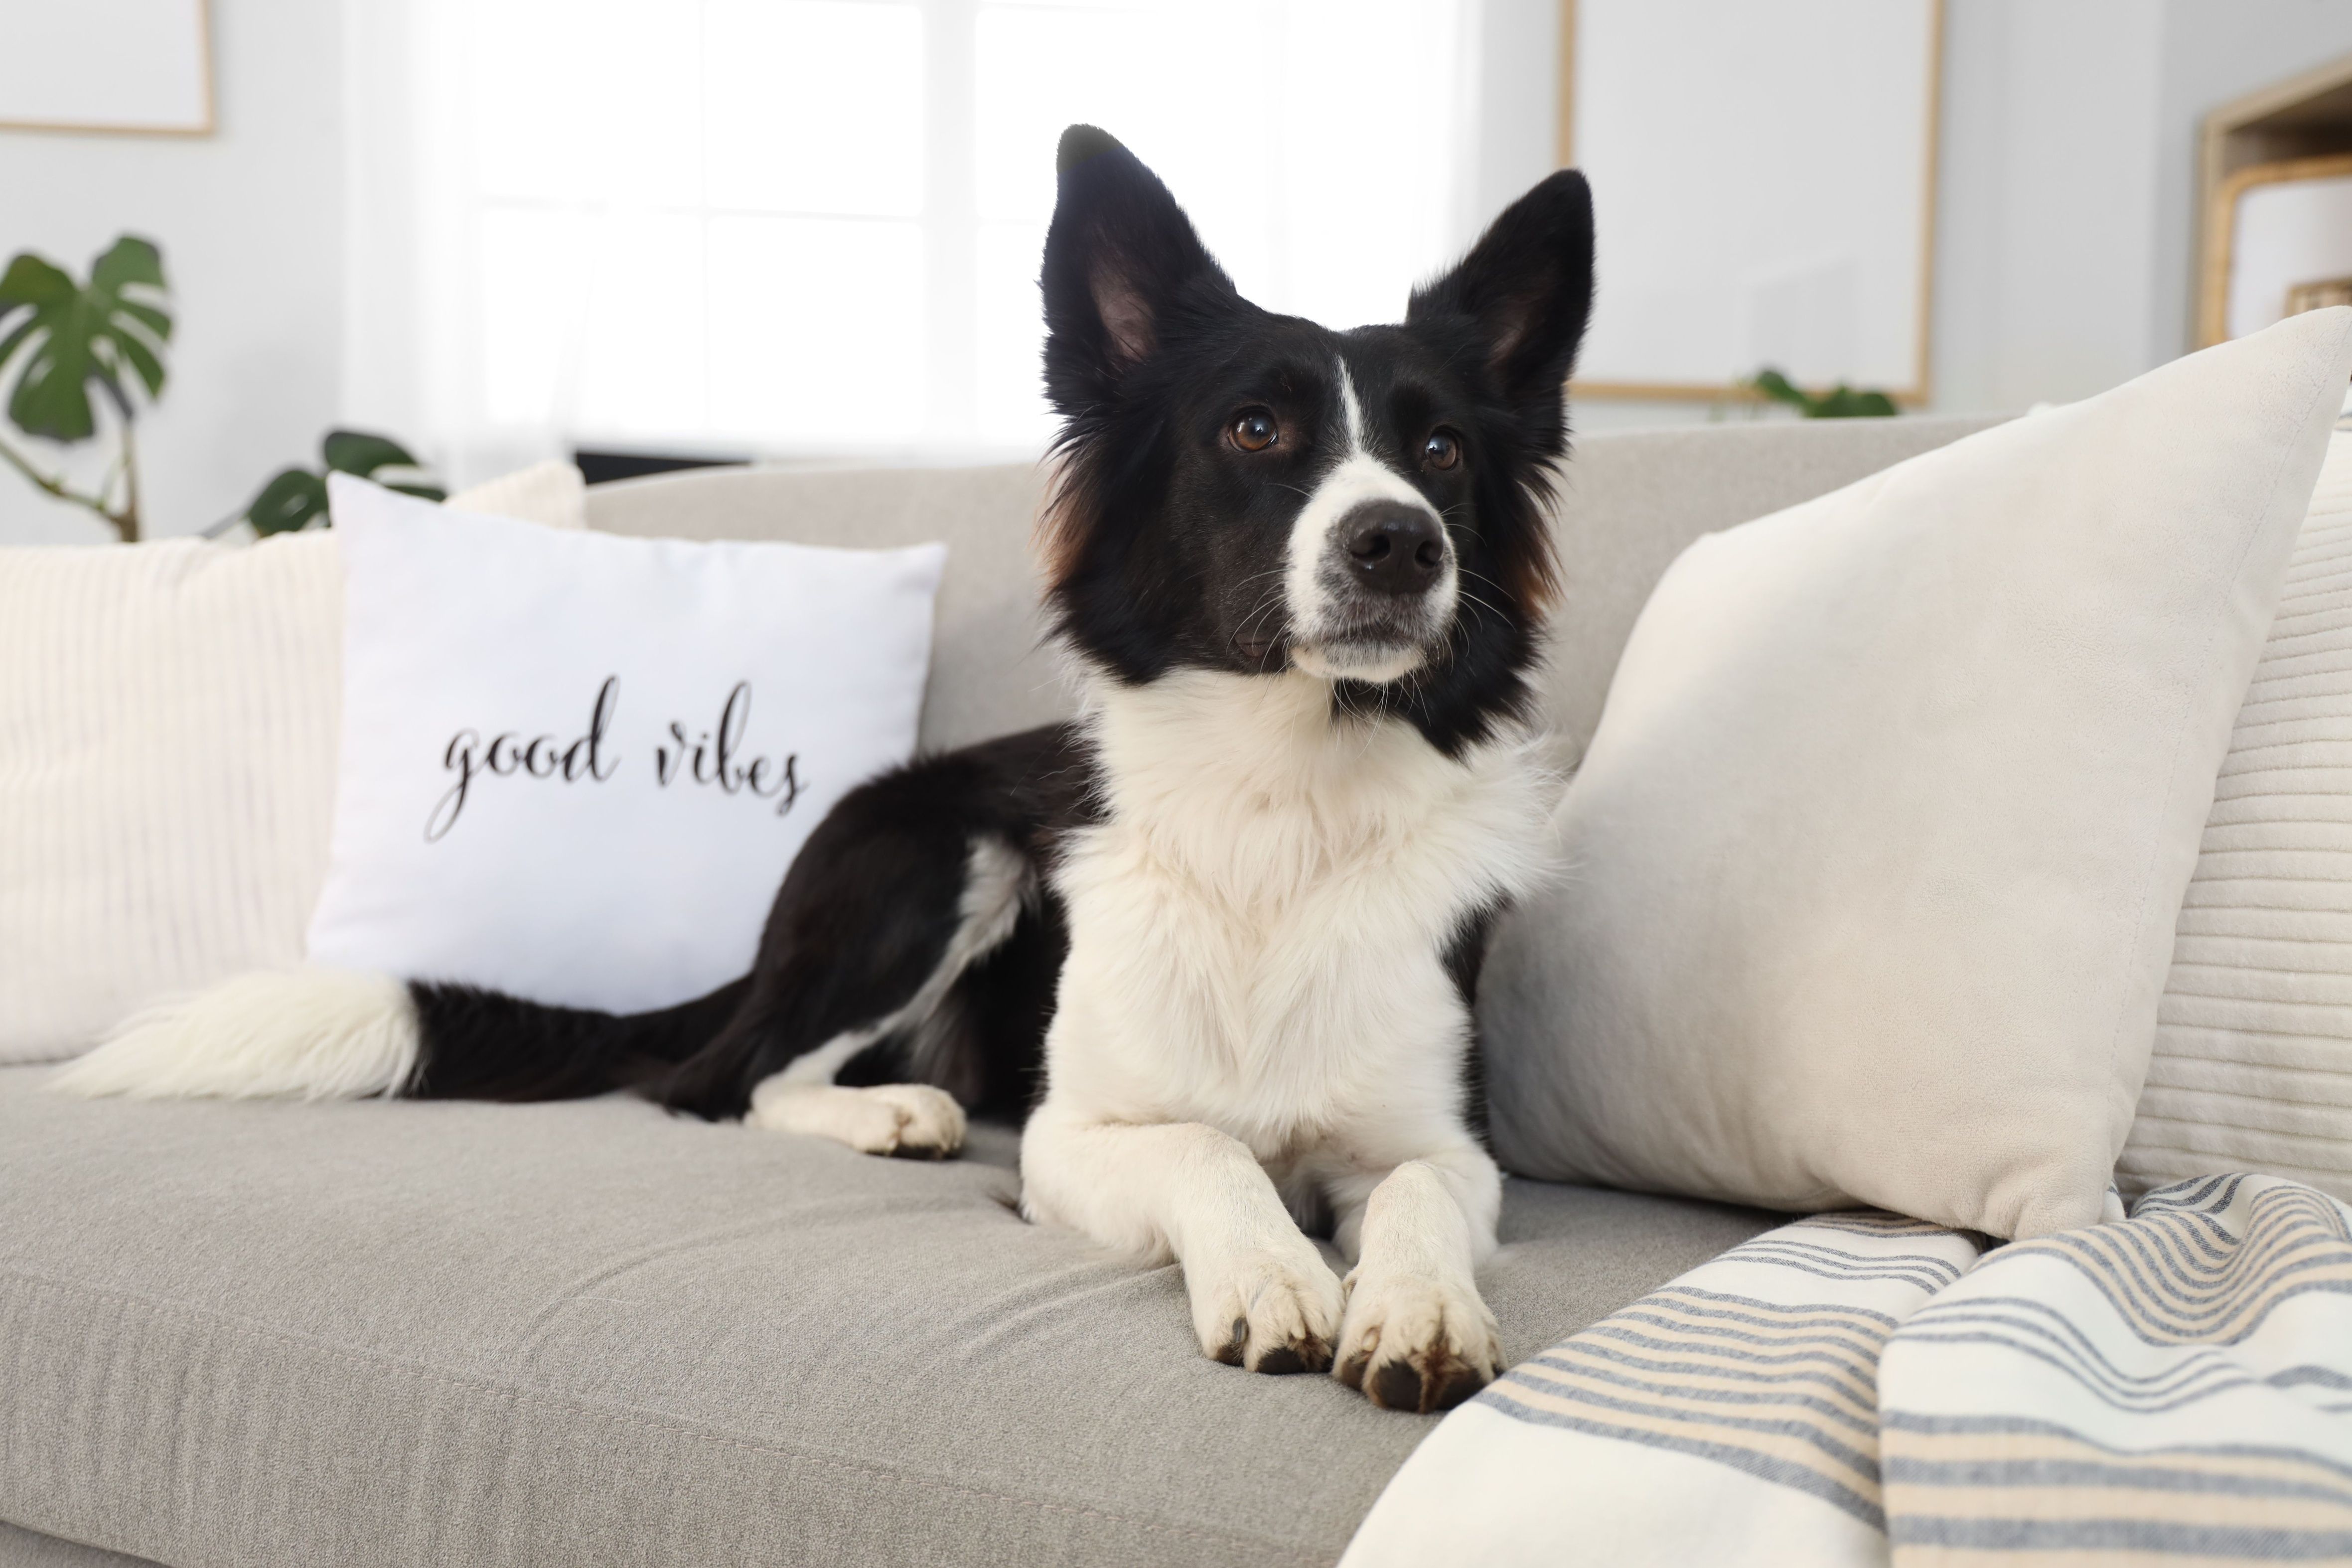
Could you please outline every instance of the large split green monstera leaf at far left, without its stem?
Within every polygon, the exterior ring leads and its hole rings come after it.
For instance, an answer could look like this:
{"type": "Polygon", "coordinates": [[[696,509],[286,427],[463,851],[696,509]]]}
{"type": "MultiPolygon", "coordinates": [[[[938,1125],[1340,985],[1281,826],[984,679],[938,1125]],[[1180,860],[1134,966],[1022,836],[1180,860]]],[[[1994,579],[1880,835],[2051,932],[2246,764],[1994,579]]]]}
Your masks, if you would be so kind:
{"type": "Polygon", "coordinates": [[[7,416],[26,435],[82,442],[96,433],[89,388],[103,388],[132,418],[129,381],[162,393],[162,348],[172,313],[162,306],[162,256],[122,235],[89,266],[89,284],[26,252],[0,273],[0,369],[31,348],[7,416]]]}

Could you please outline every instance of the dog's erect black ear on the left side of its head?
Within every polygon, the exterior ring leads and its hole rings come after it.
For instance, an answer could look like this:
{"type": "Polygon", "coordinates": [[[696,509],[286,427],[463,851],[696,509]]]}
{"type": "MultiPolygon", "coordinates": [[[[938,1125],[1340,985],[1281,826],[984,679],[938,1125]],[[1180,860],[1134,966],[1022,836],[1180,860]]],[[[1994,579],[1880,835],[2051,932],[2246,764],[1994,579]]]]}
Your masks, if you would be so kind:
{"type": "Polygon", "coordinates": [[[1150,169],[1091,125],[1061,134],[1044,237],[1044,378],[1063,414],[1108,400],[1181,329],[1230,303],[1232,280],[1150,169]]]}

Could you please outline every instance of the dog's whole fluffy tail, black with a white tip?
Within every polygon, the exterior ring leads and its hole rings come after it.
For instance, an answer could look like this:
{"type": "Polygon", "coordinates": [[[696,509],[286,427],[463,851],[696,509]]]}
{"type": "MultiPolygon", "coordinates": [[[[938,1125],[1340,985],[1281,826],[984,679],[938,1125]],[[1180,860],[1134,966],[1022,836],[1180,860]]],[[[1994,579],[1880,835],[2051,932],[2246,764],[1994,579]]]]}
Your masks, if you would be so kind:
{"type": "Polygon", "coordinates": [[[616,1016],[348,969],[249,973],[132,1018],[49,1088],[136,1100],[576,1100],[675,1067],[717,1034],[743,985],[616,1016]]]}

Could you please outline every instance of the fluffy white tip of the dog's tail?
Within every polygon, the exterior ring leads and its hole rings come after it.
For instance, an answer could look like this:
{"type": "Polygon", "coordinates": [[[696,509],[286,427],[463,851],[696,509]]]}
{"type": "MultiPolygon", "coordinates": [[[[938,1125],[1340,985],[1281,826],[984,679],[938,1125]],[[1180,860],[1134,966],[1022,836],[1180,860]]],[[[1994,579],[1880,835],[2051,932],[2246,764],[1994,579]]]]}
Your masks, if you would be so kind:
{"type": "Polygon", "coordinates": [[[259,971],[139,1013],[47,1086],[132,1100],[353,1100],[407,1086],[416,1051],[416,1004],[400,980],[259,971]]]}

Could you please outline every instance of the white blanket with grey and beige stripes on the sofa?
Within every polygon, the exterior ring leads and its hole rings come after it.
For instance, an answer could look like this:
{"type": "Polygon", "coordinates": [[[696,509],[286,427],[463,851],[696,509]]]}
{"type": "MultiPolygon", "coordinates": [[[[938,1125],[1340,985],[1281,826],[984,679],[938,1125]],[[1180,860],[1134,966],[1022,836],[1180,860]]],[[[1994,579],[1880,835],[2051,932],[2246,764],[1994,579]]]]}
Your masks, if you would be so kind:
{"type": "Polygon", "coordinates": [[[2352,1561],[2352,1208],[1757,1237],[1461,1406],[1343,1568],[2352,1561]]]}

